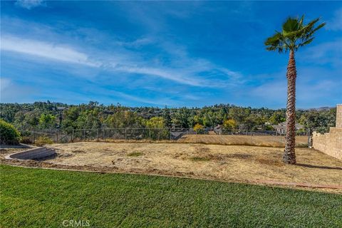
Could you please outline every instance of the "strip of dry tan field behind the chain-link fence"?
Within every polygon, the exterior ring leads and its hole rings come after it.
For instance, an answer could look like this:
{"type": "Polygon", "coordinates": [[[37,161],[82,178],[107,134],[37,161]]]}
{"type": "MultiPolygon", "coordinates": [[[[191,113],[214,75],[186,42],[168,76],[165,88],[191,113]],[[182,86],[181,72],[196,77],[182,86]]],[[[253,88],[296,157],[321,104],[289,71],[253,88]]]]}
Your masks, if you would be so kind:
{"type": "MultiPolygon", "coordinates": [[[[178,142],[283,147],[285,138],[280,135],[184,135],[178,142]]],[[[308,145],[308,136],[296,136],[296,145],[308,145]]]]}

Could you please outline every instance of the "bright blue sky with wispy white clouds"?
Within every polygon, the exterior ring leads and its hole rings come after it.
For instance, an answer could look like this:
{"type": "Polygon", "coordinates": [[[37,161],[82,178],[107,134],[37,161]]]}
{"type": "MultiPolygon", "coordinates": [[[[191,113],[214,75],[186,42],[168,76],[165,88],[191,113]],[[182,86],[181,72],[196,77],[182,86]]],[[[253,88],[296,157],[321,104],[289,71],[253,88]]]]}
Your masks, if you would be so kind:
{"type": "Polygon", "coordinates": [[[339,1],[1,1],[1,103],[285,108],[287,16],[327,23],[296,53],[297,107],[342,103],[339,1]]]}

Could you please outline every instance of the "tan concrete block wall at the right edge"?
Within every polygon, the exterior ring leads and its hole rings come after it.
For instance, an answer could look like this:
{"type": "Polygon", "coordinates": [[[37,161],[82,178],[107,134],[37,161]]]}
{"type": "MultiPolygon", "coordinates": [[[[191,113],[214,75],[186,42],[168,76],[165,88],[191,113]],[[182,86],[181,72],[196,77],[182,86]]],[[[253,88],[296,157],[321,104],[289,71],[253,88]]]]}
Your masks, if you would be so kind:
{"type": "Polygon", "coordinates": [[[330,128],[325,134],[314,132],[312,141],[316,150],[342,160],[342,105],[336,108],[336,128],[330,128]]]}

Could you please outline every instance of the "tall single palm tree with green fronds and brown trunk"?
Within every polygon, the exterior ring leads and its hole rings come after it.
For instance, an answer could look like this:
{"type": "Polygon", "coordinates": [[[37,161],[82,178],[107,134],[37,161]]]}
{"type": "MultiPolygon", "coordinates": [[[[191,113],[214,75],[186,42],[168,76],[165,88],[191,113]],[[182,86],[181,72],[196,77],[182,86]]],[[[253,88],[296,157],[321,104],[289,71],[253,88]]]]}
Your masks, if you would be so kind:
{"type": "Polygon", "coordinates": [[[296,154],[294,146],[296,145],[296,61],[294,53],[311,43],[314,40],[314,33],[325,26],[320,24],[315,27],[319,19],[304,24],[304,16],[300,19],[287,19],[282,26],[282,31],[267,38],[265,41],[266,50],[268,51],[290,51],[289,63],[287,65],[287,105],[286,105],[286,144],[284,150],[283,161],[287,164],[296,164],[296,154]]]}

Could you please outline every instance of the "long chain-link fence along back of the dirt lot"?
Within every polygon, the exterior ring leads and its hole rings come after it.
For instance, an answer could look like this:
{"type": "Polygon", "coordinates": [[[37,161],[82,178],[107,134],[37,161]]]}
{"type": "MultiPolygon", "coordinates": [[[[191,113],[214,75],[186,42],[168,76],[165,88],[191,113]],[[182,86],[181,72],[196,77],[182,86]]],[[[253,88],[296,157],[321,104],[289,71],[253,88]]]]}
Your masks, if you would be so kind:
{"type": "MultiPolygon", "coordinates": [[[[21,131],[24,143],[37,140],[53,142],[115,141],[115,140],[172,140],[222,145],[283,146],[285,135],[275,130],[217,130],[212,128],[193,130],[187,128],[99,128],[73,129],[71,133],[58,130],[21,131]]],[[[309,134],[296,133],[297,146],[307,146],[309,134]]]]}

